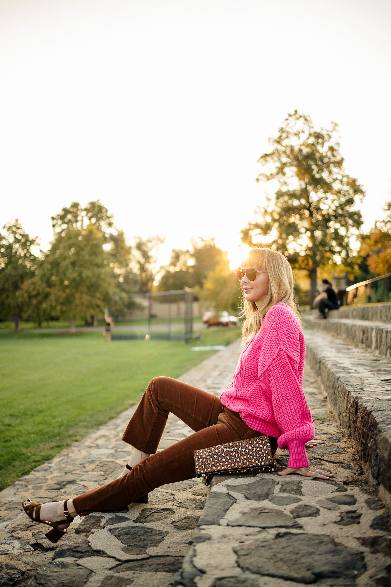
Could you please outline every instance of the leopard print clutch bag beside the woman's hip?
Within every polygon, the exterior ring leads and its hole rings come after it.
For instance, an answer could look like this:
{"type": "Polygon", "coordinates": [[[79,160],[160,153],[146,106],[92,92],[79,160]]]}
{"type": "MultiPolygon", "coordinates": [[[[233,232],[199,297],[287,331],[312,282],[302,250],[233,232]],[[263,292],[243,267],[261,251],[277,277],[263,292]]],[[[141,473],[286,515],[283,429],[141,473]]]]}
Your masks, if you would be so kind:
{"type": "Polygon", "coordinates": [[[194,463],[196,476],[204,475],[207,485],[216,474],[255,474],[277,471],[269,437],[265,434],[249,440],[237,440],[195,450],[194,463]]]}

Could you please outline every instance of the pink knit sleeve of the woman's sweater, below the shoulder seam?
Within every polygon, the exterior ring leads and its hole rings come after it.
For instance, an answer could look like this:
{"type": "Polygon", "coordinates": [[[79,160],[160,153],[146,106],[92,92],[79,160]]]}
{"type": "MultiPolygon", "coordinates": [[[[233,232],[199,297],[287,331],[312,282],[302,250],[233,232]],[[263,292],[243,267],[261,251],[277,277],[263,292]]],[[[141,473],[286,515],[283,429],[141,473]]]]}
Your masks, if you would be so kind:
{"type": "Polygon", "coordinates": [[[275,421],[282,434],[279,448],[288,447],[288,467],[306,467],[309,464],[304,444],[314,438],[314,422],[304,392],[296,375],[296,362],[280,348],[262,374],[271,392],[275,421]]]}

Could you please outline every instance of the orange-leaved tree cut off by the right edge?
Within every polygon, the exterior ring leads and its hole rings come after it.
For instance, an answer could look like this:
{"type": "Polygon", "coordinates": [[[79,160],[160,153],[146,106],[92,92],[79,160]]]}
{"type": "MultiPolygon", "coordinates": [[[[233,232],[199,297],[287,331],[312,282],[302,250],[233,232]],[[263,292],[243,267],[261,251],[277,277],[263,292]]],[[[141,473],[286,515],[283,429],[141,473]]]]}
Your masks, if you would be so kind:
{"type": "Polygon", "coordinates": [[[391,200],[383,210],[385,219],[375,222],[375,227],[362,238],[360,247],[360,255],[366,257],[375,276],[391,273],[391,200]]]}

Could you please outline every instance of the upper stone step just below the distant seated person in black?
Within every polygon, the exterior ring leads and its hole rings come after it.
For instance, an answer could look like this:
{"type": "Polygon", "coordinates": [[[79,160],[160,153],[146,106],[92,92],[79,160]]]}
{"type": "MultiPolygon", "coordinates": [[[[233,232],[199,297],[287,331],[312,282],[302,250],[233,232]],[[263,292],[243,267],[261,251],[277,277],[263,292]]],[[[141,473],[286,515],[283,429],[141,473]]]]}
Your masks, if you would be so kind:
{"type": "Polygon", "coordinates": [[[305,325],[348,340],[376,355],[391,357],[391,323],[343,318],[341,310],[329,312],[326,320],[316,316],[312,312],[304,314],[305,325]]]}

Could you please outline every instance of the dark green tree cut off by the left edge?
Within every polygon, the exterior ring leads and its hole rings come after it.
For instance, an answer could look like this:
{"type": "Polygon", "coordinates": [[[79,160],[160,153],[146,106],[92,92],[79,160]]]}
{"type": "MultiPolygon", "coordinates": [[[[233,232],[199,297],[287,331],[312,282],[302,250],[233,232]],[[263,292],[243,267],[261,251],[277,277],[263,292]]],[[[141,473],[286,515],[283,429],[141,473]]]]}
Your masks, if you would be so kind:
{"type": "Polygon", "coordinates": [[[25,310],[22,286],[36,269],[32,252],[36,238],[31,238],[17,219],[3,228],[6,234],[0,235],[0,312],[3,318],[12,316],[17,331],[25,310]]]}

